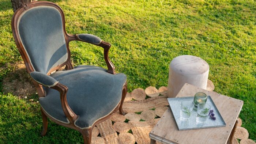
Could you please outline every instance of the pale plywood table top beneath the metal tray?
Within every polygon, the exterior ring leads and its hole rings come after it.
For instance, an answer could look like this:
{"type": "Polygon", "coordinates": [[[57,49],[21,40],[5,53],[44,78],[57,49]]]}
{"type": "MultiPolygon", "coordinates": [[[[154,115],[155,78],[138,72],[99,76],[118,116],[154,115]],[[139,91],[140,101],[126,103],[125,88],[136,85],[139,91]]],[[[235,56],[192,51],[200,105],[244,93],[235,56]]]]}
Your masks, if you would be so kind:
{"type": "Polygon", "coordinates": [[[149,136],[163,143],[227,143],[236,119],[242,109],[243,101],[234,99],[217,92],[207,91],[191,84],[184,84],[176,97],[193,96],[196,92],[204,92],[210,95],[223,120],[225,127],[205,128],[193,130],[178,130],[172,111],[167,109],[149,136]]]}

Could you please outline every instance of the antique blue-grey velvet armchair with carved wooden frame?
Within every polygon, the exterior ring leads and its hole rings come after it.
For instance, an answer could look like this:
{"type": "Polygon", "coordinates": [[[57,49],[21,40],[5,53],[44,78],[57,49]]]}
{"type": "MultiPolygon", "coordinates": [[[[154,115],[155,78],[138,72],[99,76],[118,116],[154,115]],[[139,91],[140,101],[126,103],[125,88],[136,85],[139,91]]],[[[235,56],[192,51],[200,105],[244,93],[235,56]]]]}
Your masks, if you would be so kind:
{"type": "Polygon", "coordinates": [[[24,4],[12,18],[12,32],[27,72],[37,88],[44,136],[47,117],[76,129],[90,144],[93,127],[118,109],[127,93],[126,76],[116,73],[109,60],[110,44],[91,34],[67,34],[61,8],[48,1],[24,4]],[[104,50],[108,69],[92,65],[73,67],[70,41],[83,41],[104,50]],[[60,70],[65,66],[64,70],[60,70]],[[56,71],[56,72],[55,72],[56,71]]]}

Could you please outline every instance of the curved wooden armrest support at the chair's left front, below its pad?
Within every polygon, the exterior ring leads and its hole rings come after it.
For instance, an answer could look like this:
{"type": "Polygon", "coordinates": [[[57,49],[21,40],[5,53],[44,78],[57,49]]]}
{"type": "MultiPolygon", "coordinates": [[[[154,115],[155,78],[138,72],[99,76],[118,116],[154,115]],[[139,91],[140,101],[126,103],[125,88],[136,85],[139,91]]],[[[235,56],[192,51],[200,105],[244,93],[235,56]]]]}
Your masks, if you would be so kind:
{"type": "Polygon", "coordinates": [[[68,87],[64,86],[61,83],[57,83],[55,86],[50,88],[60,92],[60,101],[61,101],[61,106],[63,108],[64,114],[68,118],[69,122],[74,124],[75,120],[78,118],[78,115],[76,115],[68,105],[68,102],[67,102],[68,87]]]}

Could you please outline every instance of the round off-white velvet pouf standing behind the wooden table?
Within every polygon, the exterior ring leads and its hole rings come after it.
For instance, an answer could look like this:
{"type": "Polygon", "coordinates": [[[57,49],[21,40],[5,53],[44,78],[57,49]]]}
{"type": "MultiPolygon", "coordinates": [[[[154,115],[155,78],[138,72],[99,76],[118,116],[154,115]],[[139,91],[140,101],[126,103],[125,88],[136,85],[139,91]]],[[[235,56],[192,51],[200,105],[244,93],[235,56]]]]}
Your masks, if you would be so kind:
{"type": "Polygon", "coordinates": [[[209,65],[196,56],[174,58],[169,67],[168,97],[174,98],[185,83],[206,89],[209,65]]]}

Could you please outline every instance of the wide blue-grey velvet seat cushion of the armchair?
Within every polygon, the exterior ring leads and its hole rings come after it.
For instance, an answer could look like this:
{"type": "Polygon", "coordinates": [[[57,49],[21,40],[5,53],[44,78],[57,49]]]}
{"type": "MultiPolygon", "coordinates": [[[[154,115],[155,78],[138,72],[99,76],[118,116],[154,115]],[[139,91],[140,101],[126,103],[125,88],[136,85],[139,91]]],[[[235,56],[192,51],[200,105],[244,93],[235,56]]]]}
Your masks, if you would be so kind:
{"type": "MultiPolygon", "coordinates": [[[[54,79],[68,87],[67,101],[79,118],[75,125],[87,128],[105,117],[121,101],[122,88],[126,82],[123,73],[110,74],[101,67],[80,65],[68,71],[53,73],[54,79]]],[[[44,87],[46,96],[39,99],[42,108],[55,120],[69,123],[61,107],[60,93],[44,87]]]]}

